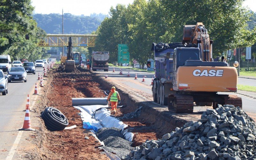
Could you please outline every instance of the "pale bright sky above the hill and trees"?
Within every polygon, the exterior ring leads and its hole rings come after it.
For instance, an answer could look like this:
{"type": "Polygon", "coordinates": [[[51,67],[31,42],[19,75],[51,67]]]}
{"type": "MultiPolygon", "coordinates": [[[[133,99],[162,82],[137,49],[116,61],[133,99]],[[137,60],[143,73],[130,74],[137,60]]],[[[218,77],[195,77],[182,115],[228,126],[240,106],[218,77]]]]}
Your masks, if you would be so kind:
{"type": "MultiPolygon", "coordinates": [[[[133,0],[31,0],[35,7],[34,13],[71,13],[73,15],[89,16],[92,13],[108,14],[111,6],[116,4],[132,4],[133,0]]],[[[256,12],[256,0],[245,0],[244,6],[248,6],[256,12]]]]}

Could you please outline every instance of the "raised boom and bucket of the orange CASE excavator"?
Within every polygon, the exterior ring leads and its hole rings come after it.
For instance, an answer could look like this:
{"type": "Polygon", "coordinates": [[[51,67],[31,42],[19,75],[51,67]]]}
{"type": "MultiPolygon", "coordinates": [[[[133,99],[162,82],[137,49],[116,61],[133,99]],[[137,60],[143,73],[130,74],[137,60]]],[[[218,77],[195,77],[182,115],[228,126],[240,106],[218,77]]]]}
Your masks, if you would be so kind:
{"type": "Polygon", "coordinates": [[[213,61],[212,59],[212,40],[202,22],[196,25],[184,25],[183,44],[197,44],[200,49],[200,59],[202,61],[213,61]]]}

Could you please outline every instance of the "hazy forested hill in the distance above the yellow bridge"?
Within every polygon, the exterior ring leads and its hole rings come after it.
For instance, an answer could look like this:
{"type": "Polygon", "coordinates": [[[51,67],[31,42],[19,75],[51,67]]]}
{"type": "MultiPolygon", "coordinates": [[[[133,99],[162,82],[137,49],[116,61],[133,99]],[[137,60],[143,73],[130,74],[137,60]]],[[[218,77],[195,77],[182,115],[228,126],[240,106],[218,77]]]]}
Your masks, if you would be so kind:
{"type": "MultiPolygon", "coordinates": [[[[93,13],[90,16],[76,16],[64,13],[64,34],[91,34],[107,15],[93,13]]],[[[62,34],[62,15],[59,13],[34,14],[38,27],[48,34],[62,34]]]]}

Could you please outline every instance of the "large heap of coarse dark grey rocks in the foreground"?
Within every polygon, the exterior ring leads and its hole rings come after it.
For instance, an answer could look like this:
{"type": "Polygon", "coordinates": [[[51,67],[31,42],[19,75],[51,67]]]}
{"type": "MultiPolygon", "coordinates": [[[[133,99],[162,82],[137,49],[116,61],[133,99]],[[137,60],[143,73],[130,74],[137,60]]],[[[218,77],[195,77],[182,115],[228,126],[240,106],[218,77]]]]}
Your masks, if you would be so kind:
{"type": "Polygon", "coordinates": [[[126,159],[256,159],[256,125],[239,107],[207,109],[160,140],[146,140],[126,159]]]}

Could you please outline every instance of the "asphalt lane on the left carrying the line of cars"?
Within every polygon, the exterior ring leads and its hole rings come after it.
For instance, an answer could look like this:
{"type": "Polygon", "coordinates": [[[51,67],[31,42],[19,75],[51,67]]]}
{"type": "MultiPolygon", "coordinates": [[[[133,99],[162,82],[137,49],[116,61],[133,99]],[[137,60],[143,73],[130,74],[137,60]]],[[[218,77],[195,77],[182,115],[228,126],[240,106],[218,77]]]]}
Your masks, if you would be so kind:
{"type": "MultiPolygon", "coordinates": [[[[22,128],[27,95],[32,96],[35,90],[35,84],[40,83],[37,80],[38,73],[43,73],[43,68],[36,68],[36,74],[28,74],[27,82],[10,82],[8,85],[8,94],[0,94],[0,159],[6,159],[18,135],[18,130],[22,128]]],[[[31,99],[31,98],[30,98],[31,99]]],[[[30,100],[31,105],[31,100],[30,100]]]]}

